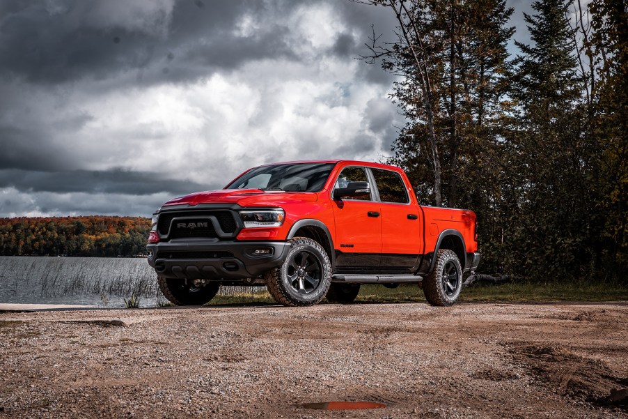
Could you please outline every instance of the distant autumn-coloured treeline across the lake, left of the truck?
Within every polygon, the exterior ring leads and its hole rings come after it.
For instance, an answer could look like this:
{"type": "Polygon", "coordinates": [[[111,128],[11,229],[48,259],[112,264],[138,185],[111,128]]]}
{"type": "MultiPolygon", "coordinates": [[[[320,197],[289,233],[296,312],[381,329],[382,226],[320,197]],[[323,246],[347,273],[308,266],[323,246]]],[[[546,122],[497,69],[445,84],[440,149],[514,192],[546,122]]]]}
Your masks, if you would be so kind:
{"type": "Polygon", "coordinates": [[[141,256],[149,230],[141,217],[0,218],[0,255],[141,256]]]}

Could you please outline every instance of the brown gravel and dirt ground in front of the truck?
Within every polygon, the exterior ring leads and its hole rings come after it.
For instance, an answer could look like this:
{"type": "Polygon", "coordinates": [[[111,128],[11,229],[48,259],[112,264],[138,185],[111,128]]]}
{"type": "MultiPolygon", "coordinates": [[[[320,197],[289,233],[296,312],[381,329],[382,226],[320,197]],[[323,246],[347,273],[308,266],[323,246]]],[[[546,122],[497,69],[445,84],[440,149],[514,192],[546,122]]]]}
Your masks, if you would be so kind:
{"type": "Polygon", "coordinates": [[[627,337],[627,303],[3,313],[0,418],[628,418],[627,337]]]}

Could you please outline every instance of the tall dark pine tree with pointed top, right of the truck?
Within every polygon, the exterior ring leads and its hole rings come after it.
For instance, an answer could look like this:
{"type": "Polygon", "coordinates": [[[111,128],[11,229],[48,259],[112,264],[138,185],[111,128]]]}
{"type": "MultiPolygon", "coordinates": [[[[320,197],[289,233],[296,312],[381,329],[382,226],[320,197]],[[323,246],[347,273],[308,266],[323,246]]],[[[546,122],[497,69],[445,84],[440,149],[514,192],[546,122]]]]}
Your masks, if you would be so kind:
{"type": "Polygon", "coordinates": [[[533,45],[517,43],[519,115],[510,136],[517,155],[510,178],[518,178],[517,208],[509,239],[526,249],[521,272],[537,277],[579,275],[588,264],[591,156],[574,36],[565,0],[533,3],[525,15],[533,45]]]}

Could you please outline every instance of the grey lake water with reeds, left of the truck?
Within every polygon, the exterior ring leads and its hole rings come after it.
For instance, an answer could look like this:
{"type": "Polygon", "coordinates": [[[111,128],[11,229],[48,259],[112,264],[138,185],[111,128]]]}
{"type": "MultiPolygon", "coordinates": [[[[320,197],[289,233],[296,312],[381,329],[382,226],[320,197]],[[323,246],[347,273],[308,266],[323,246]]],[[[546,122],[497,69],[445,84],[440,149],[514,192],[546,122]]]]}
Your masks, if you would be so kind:
{"type": "MultiPolygon", "coordinates": [[[[221,287],[219,294],[238,291],[261,289],[221,287]]],[[[125,307],[133,294],[140,307],[167,303],[144,258],[0,257],[0,303],[125,307]]]]}

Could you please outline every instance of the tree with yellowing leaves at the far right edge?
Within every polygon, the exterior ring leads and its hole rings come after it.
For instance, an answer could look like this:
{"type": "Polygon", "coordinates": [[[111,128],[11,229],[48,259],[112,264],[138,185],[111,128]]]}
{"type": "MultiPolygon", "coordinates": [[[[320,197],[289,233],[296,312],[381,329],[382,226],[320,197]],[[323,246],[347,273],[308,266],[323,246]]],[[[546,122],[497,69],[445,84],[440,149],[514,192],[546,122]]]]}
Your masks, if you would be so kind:
{"type": "Polygon", "coordinates": [[[596,99],[595,137],[601,153],[598,177],[604,220],[604,264],[626,279],[628,270],[628,11],[624,0],[590,4],[592,49],[602,61],[596,99]]]}

